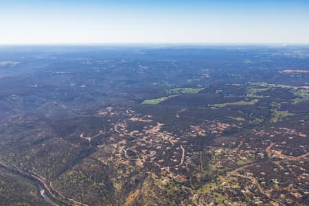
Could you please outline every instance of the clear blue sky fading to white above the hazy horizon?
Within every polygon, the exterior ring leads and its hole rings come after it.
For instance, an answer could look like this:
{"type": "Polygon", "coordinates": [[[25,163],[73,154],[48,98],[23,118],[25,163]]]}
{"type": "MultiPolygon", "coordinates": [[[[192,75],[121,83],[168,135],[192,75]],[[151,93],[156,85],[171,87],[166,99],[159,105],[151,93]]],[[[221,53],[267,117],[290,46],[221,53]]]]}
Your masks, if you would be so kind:
{"type": "Polygon", "coordinates": [[[309,44],[309,1],[0,0],[0,44],[309,44]]]}

